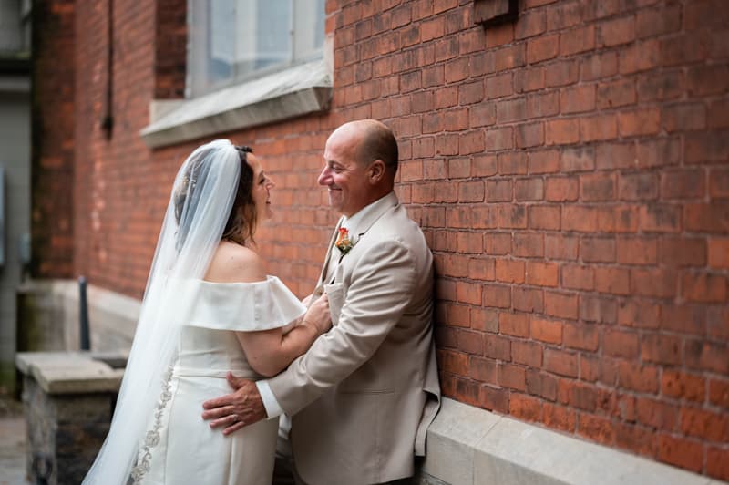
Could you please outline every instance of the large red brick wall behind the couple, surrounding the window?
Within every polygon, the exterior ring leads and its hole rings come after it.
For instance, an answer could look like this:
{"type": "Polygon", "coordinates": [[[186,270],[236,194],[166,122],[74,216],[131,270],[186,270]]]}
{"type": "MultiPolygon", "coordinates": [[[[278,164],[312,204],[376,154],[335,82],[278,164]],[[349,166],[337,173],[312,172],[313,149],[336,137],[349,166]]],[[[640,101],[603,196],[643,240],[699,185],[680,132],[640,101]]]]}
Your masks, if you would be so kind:
{"type": "MultiPolygon", "coordinates": [[[[383,119],[436,256],[446,395],[727,480],[729,5],[520,4],[484,30],[467,0],[328,0],[331,111],[220,135],[277,183],[260,251],[311,291],[336,219],[315,185],[326,136],[383,119]]],[[[203,140],[139,139],[149,101],[180,94],[156,60],[174,23],[161,2],[115,5],[107,140],[106,9],[77,2],[74,267],[140,296],[203,140]]]]}

